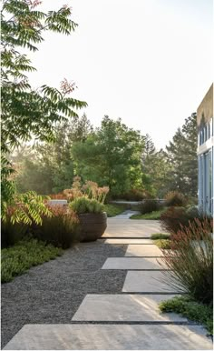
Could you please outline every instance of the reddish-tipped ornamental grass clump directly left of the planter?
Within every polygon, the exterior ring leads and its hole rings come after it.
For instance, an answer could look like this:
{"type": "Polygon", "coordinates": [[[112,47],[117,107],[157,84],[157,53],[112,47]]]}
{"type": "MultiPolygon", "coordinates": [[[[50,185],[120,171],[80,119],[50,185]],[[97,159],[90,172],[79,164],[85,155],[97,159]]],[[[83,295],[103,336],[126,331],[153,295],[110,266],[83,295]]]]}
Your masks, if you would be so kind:
{"type": "Polygon", "coordinates": [[[53,246],[63,249],[72,246],[78,241],[78,217],[72,209],[62,206],[52,206],[52,217],[44,217],[42,226],[33,225],[30,228],[32,235],[53,246]]]}

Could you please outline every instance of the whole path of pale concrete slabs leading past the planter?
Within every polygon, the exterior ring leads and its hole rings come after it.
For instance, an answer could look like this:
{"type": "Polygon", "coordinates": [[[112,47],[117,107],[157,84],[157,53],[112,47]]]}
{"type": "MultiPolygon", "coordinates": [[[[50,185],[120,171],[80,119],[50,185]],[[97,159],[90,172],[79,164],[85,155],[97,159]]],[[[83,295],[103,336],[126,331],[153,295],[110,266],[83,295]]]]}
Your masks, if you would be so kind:
{"type": "Polygon", "coordinates": [[[123,279],[123,285],[107,293],[101,280],[99,291],[84,296],[70,322],[25,324],[5,349],[212,349],[202,326],[176,314],[159,313],[160,301],[179,293],[166,284],[170,273],[161,263],[160,249],[150,239],[151,233],[160,232],[160,226],[156,221],[131,220],[130,214],[109,218],[102,239],[91,243],[95,251],[100,247],[102,253],[110,253],[96,275],[102,272],[109,284],[110,276],[112,284],[123,279]],[[122,245],[126,245],[123,255],[121,249],[117,251],[122,245]],[[110,247],[119,255],[112,256],[110,247]]]}

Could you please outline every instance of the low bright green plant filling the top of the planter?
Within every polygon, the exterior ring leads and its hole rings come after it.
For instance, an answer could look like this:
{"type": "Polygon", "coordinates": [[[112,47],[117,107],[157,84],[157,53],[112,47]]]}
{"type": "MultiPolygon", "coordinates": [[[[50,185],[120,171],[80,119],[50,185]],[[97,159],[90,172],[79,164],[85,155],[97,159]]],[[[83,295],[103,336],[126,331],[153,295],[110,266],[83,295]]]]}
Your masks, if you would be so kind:
{"type": "Polygon", "coordinates": [[[70,204],[70,208],[77,214],[95,213],[100,214],[103,212],[104,206],[95,199],[82,196],[75,198],[70,204]]]}

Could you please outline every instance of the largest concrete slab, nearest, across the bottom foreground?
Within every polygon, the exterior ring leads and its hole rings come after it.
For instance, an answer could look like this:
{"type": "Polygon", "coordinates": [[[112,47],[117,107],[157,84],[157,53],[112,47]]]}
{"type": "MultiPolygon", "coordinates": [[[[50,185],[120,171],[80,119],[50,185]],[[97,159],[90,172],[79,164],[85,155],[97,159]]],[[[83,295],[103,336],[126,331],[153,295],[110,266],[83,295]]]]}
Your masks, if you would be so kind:
{"type": "Polygon", "coordinates": [[[25,325],[5,350],[210,350],[201,326],[25,325]]]}

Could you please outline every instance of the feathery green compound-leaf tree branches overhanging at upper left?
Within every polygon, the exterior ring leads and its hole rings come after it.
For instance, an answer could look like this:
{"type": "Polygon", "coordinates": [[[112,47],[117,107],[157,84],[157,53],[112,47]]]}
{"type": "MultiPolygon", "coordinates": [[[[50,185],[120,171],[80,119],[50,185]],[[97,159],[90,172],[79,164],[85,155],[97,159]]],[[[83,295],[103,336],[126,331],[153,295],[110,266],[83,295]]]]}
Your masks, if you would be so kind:
{"type": "MultiPolygon", "coordinates": [[[[63,6],[59,11],[44,14],[34,10],[37,2],[28,0],[3,0],[1,12],[2,46],[2,118],[1,147],[5,157],[22,142],[35,139],[52,140],[57,122],[76,117],[76,110],[87,104],[68,96],[73,84],[63,80],[61,90],[43,85],[34,89],[27,74],[35,68],[24,49],[36,51],[45,31],[70,35],[76,24],[70,18],[71,8],[63,6]]],[[[3,216],[6,206],[15,195],[14,184],[9,179],[11,165],[2,168],[3,216]]]]}

